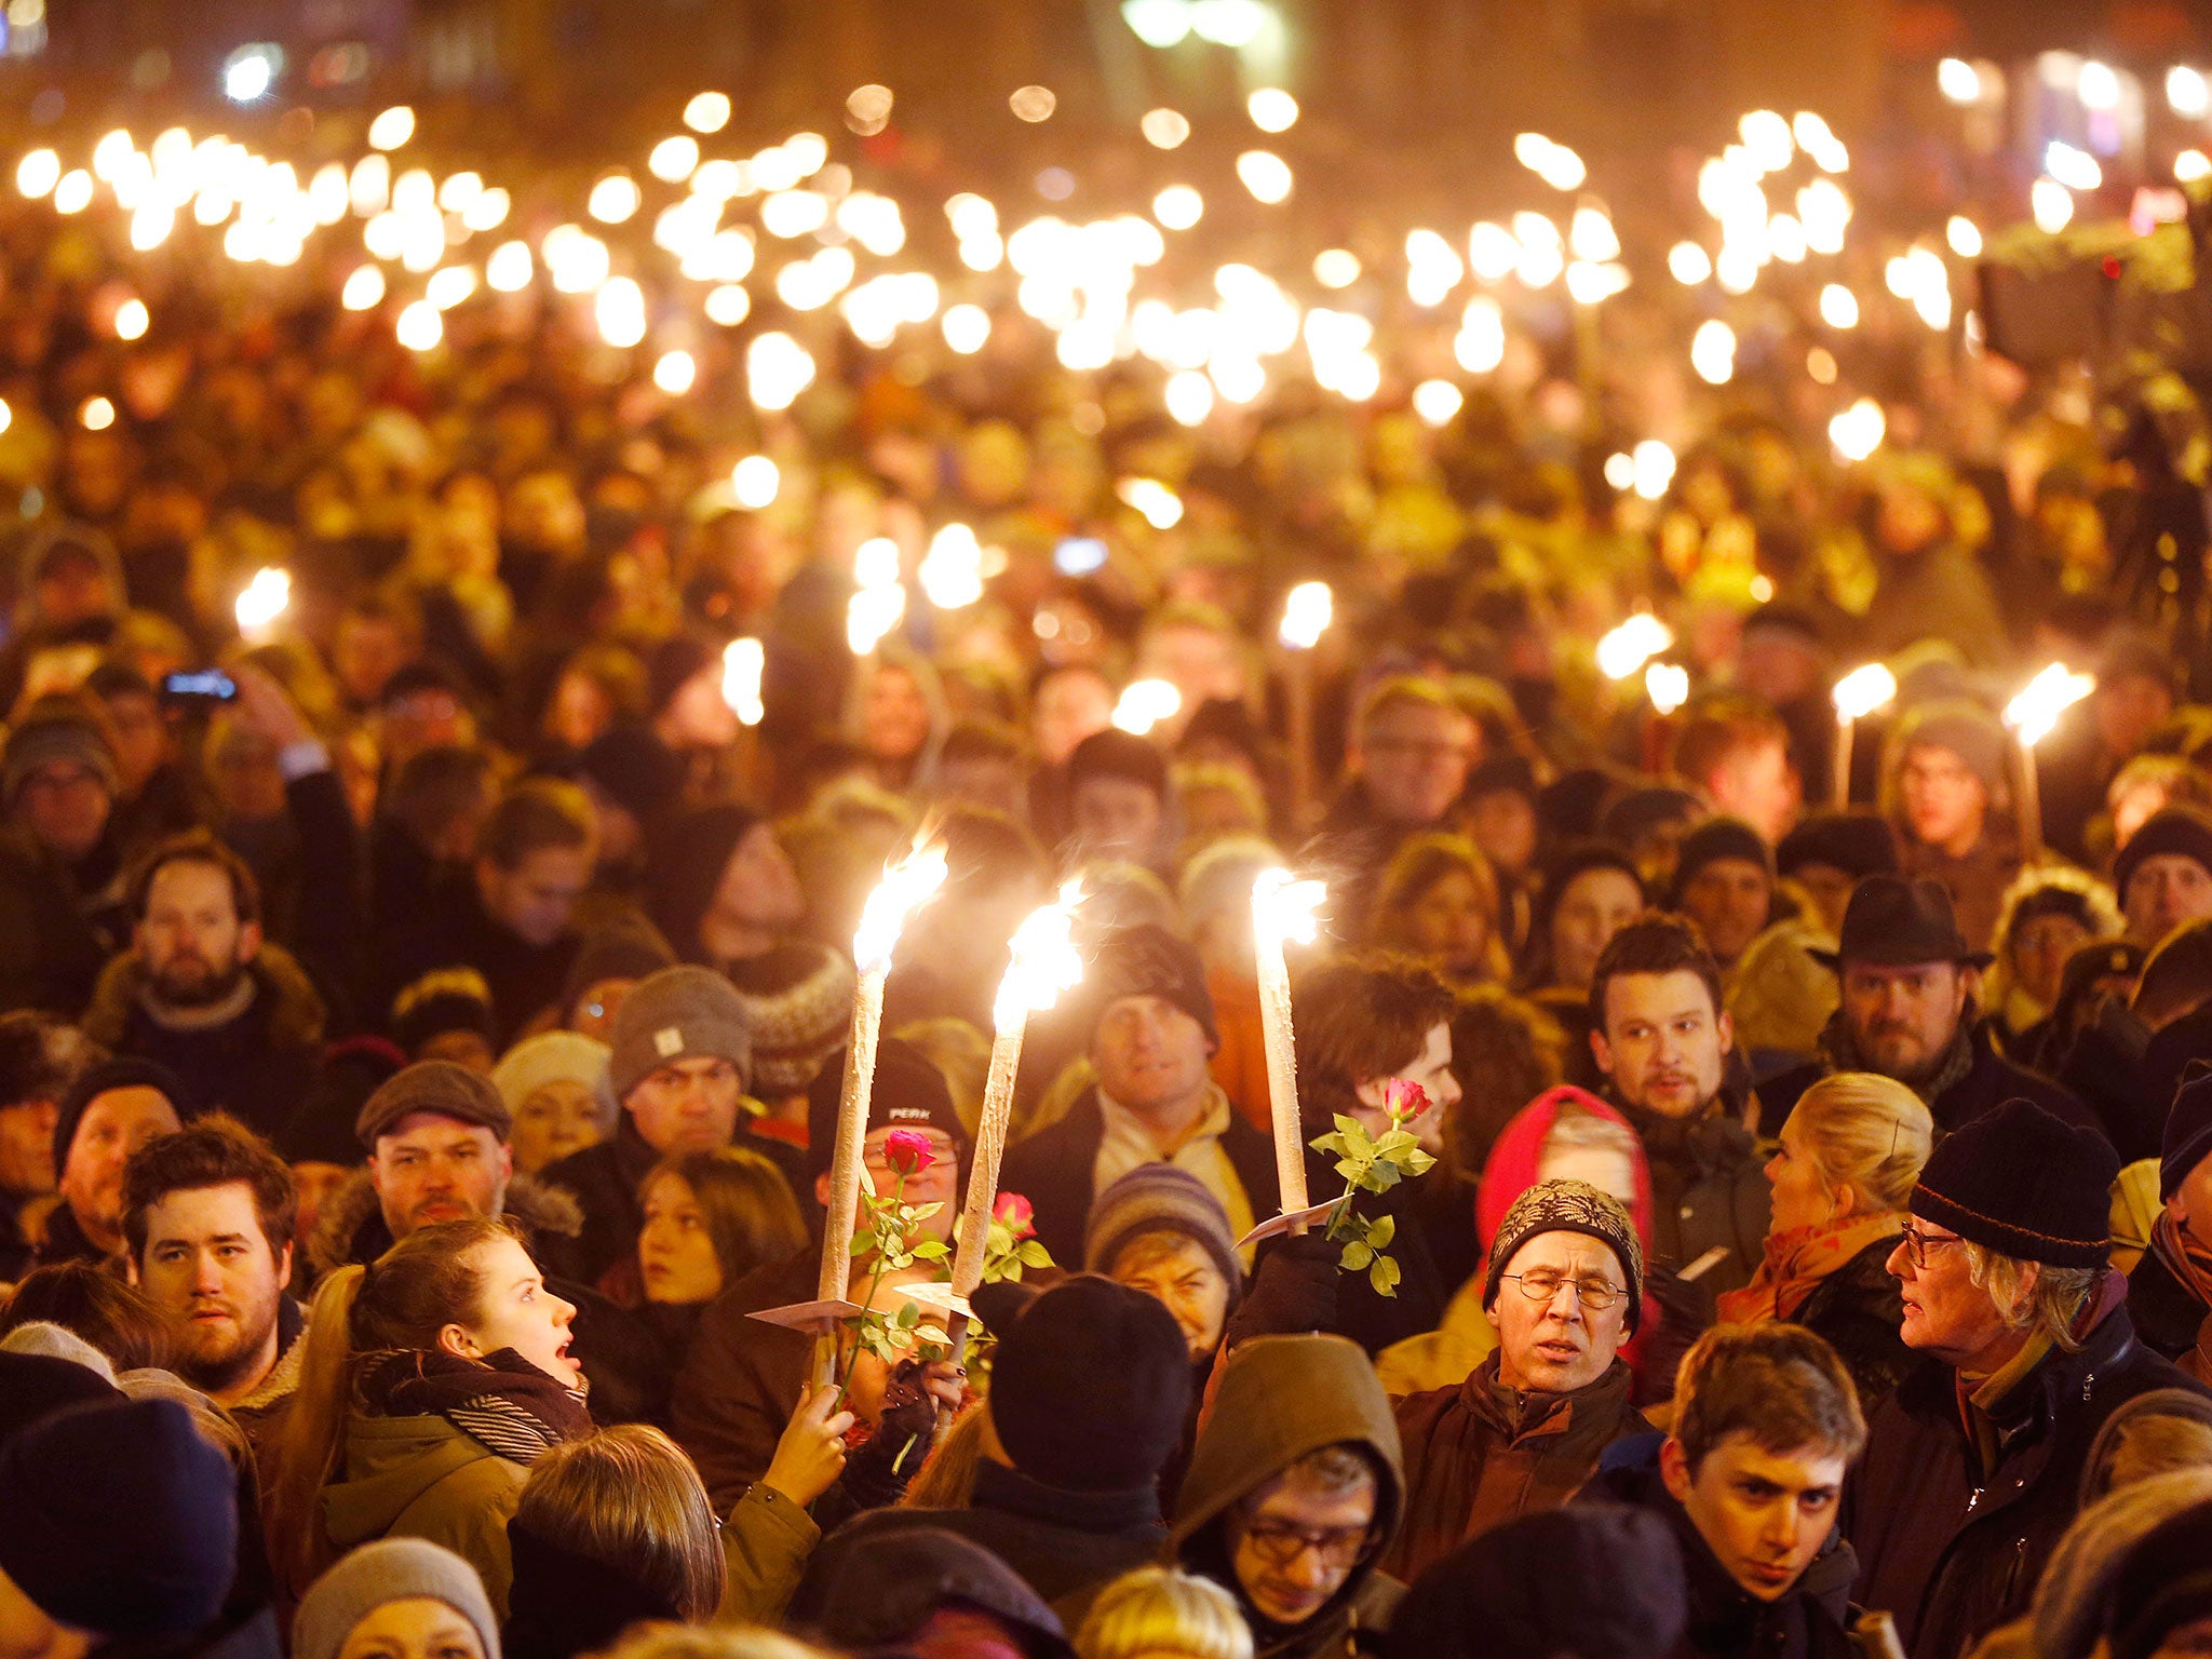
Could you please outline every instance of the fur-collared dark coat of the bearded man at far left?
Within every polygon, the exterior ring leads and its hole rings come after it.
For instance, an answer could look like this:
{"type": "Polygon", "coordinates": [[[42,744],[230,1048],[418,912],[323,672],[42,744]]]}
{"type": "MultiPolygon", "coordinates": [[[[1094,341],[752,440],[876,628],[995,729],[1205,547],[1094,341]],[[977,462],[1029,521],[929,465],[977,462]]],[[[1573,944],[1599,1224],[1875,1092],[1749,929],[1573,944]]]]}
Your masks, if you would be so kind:
{"type": "Polygon", "coordinates": [[[257,1135],[274,1137],[314,1082],[323,998],[281,945],[263,945],[248,975],[254,998],[234,1020],[179,1029],[146,1009],[146,964],[126,951],[102,969],[84,1035],[168,1066],[199,1110],[226,1110],[257,1135]]]}

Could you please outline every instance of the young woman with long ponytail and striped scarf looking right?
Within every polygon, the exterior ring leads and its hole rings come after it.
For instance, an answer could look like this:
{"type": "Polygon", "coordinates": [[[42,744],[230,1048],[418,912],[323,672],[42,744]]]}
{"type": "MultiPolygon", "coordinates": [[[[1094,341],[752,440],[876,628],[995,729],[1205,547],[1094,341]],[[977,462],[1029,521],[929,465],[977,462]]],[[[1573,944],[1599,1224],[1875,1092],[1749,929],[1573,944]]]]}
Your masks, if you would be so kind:
{"type": "Polygon", "coordinates": [[[292,1590],[356,1544],[427,1537],[504,1619],[529,1464],[591,1433],[573,1316],[502,1219],[420,1228],[325,1279],[265,1498],[292,1590]]]}

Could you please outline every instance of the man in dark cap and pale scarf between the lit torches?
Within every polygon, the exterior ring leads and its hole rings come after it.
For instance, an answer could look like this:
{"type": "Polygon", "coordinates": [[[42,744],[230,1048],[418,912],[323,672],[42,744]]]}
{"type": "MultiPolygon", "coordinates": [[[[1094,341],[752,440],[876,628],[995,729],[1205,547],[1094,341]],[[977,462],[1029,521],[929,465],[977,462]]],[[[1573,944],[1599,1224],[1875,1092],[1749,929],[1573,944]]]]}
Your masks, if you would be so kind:
{"type": "Polygon", "coordinates": [[[1091,1201],[1139,1164],[1175,1164],[1221,1199],[1243,1237],[1276,1212],[1274,1148],[1230,1106],[1197,949],[1144,922],[1110,933],[1086,978],[1097,1082],[1051,1128],[1006,1148],[1000,1192],[1037,1210],[1053,1261],[1082,1261],[1091,1201]]]}

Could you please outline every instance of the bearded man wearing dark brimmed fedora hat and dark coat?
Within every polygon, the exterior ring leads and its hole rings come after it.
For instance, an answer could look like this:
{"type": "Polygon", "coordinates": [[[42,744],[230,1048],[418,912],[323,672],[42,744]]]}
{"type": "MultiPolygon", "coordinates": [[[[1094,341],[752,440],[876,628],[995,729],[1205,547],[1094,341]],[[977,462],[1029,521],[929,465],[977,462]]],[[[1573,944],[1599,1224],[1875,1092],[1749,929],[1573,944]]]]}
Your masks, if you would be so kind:
{"type": "Polygon", "coordinates": [[[1936,1128],[1964,1128],[2008,1099],[2104,1133],[2079,1099],[1997,1053],[1973,1000],[1951,896],[1933,880],[1867,876],[1851,891],[1836,951],[1814,951],[1843,980],[1843,1006],[1820,1033],[1820,1057],[1759,1086],[1761,1126],[1778,1135],[1798,1095],[1838,1071],[1896,1077],[1927,1102],[1936,1128]]]}

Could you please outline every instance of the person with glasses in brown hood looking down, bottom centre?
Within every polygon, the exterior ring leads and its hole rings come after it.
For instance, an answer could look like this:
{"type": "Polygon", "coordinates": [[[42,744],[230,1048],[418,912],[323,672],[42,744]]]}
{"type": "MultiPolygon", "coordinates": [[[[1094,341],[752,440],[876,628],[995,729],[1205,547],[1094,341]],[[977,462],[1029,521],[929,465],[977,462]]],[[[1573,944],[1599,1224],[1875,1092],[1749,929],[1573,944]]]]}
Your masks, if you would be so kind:
{"type": "Polygon", "coordinates": [[[1261,1659],[1374,1652],[1405,1593],[1398,1425],[1343,1336],[1254,1336],[1221,1369],[1177,1498],[1175,1562],[1237,1597],[1261,1659]]]}

